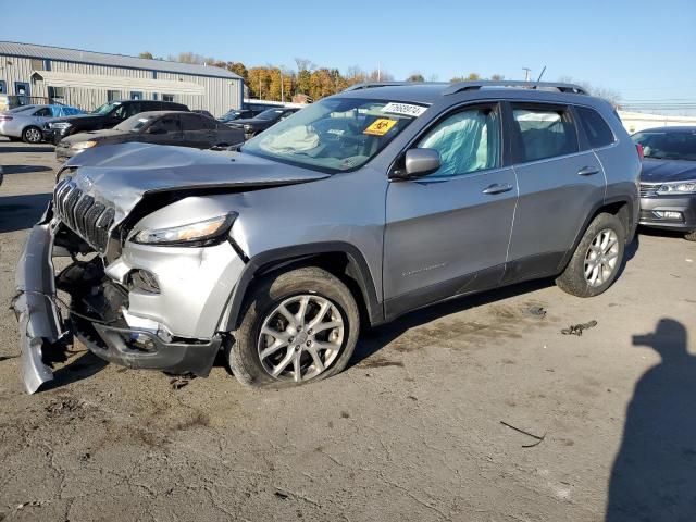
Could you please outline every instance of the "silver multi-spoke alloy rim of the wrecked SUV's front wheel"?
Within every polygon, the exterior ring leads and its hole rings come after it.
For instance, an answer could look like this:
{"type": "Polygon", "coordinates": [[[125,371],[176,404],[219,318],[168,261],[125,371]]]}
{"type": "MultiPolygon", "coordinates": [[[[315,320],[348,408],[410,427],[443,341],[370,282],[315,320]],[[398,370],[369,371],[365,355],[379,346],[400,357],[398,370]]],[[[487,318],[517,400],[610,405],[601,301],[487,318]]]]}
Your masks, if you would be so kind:
{"type": "Polygon", "coordinates": [[[261,324],[259,360],[273,378],[309,381],[336,361],[344,331],[343,314],[328,299],[310,294],[287,298],[261,324]]]}

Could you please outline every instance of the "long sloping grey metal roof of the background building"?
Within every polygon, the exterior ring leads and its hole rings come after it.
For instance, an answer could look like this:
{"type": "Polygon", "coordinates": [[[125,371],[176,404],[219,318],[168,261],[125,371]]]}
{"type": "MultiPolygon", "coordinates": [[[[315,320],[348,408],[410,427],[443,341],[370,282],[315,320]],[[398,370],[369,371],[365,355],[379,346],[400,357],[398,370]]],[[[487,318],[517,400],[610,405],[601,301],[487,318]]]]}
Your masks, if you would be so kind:
{"type": "Polygon", "coordinates": [[[89,63],[112,67],[144,69],[147,71],[190,74],[195,76],[241,79],[239,75],[232,71],[214,67],[212,65],[197,65],[194,63],[171,62],[169,60],[150,60],[147,58],[126,57],[124,54],[108,54],[105,52],[38,46],[35,44],[17,44],[14,41],[0,41],[0,54],[20,58],[58,60],[63,62],[89,63]]]}

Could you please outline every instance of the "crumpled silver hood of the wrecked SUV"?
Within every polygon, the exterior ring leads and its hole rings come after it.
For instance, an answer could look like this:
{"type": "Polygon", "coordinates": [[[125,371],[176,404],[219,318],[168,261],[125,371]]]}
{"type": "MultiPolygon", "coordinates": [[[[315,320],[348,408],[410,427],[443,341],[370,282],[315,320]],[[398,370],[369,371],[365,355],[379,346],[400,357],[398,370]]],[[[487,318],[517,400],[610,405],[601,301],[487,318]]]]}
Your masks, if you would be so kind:
{"type": "Polygon", "coordinates": [[[77,167],[72,174],[77,186],[95,200],[114,207],[114,225],[146,194],[290,185],[328,177],[239,152],[138,142],[87,149],[64,167],[77,167]]]}

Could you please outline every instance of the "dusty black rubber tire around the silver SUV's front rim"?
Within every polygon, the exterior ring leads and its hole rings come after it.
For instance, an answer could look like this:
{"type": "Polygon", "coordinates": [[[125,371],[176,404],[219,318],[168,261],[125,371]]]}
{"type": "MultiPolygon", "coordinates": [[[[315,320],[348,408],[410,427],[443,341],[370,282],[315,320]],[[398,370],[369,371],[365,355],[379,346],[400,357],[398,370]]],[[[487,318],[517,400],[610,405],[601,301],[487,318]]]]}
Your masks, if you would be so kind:
{"type": "MultiPolygon", "coordinates": [[[[360,314],[348,287],[325,270],[315,266],[300,268],[270,276],[251,288],[243,307],[241,323],[234,332],[234,341],[225,348],[225,361],[234,376],[246,386],[297,386],[341,372],[352,356],[359,332],[360,314]],[[260,331],[266,316],[281,302],[299,295],[318,296],[331,301],[344,321],[344,339],[338,355],[319,375],[299,383],[278,381],[271,376],[261,362],[258,349],[260,331]]],[[[287,349],[290,350],[291,347],[287,349]]]]}

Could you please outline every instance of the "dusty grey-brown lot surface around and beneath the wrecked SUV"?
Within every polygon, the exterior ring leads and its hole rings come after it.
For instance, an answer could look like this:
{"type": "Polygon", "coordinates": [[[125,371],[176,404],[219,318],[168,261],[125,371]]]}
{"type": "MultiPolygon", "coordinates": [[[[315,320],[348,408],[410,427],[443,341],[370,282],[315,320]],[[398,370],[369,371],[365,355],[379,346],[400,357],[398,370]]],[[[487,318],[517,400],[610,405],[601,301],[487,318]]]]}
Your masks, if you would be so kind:
{"type": "Polygon", "coordinates": [[[594,299],[546,281],[412,313],[297,389],[222,365],[175,389],[76,345],[27,396],[8,306],[57,165],[7,141],[0,164],[0,520],[696,519],[696,244],[642,231],[594,299]]]}

